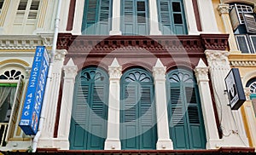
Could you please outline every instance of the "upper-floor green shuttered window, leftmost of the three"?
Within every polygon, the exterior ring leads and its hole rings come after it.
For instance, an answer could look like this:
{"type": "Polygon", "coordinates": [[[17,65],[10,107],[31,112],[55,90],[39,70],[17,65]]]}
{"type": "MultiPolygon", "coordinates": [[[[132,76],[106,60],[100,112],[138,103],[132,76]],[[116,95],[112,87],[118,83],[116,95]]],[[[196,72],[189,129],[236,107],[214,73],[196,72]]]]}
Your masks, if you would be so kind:
{"type": "Polygon", "coordinates": [[[86,0],[82,34],[108,35],[111,28],[112,0],[86,0]]]}

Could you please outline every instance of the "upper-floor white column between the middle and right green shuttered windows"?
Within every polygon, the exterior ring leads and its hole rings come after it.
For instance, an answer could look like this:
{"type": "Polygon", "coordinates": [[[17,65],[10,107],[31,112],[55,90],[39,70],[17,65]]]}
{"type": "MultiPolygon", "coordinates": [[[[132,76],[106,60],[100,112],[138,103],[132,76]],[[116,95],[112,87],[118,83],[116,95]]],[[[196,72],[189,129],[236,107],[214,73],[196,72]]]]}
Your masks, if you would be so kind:
{"type": "Polygon", "coordinates": [[[150,22],[150,35],[161,35],[159,30],[158,12],[157,12],[157,1],[148,0],[149,3],[149,22],[150,22]]]}

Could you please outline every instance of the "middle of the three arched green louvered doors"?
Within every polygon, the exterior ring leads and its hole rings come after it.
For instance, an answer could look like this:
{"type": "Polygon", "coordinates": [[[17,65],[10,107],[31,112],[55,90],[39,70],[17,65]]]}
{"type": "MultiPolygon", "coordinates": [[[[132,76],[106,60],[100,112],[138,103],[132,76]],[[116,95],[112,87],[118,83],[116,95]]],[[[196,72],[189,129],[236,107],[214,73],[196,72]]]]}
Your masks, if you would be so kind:
{"type": "Polygon", "coordinates": [[[124,150],[155,149],[157,141],[153,79],[143,69],[121,78],[120,139],[124,150]]]}

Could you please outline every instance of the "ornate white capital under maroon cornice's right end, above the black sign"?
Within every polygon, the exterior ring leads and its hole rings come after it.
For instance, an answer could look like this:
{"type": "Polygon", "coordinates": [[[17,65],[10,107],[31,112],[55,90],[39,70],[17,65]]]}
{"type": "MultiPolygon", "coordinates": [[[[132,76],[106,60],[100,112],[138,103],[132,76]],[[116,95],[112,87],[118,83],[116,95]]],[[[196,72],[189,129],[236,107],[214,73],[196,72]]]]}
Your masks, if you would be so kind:
{"type": "Polygon", "coordinates": [[[222,50],[206,50],[205,54],[207,55],[207,62],[209,66],[221,67],[221,68],[230,68],[230,62],[228,59],[228,51],[222,50]]]}

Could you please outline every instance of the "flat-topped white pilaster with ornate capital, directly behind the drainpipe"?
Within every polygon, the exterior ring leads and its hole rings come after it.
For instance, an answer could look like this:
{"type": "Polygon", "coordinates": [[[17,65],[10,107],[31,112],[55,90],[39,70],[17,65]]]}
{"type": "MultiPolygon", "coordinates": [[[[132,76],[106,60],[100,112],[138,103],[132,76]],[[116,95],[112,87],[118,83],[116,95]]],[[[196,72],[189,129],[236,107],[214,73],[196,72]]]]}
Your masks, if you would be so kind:
{"type": "Polygon", "coordinates": [[[61,69],[66,54],[66,49],[56,50],[51,79],[47,81],[47,83],[49,82],[49,89],[46,90],[44,94],[44,96],[48,96],[48,98],[44,98],[43,102],[43,104],[46,106],[45,119],[41,136],[38,140],[38,147],[53,146],[52,139],[55,129],[56,108],[61,84],[61,69]]]}

